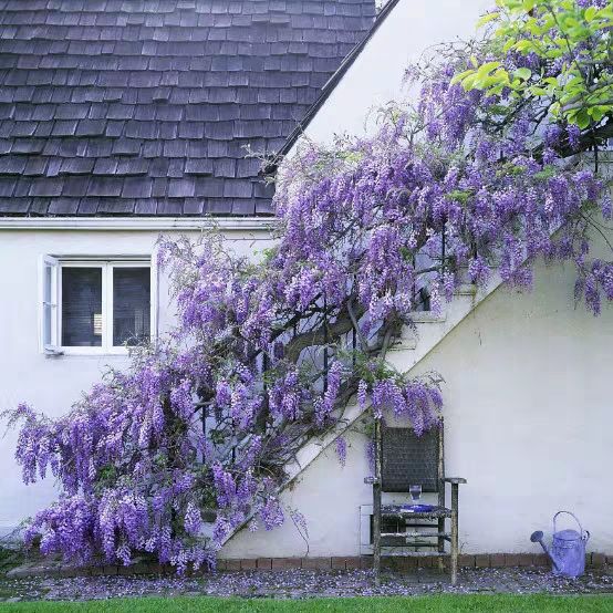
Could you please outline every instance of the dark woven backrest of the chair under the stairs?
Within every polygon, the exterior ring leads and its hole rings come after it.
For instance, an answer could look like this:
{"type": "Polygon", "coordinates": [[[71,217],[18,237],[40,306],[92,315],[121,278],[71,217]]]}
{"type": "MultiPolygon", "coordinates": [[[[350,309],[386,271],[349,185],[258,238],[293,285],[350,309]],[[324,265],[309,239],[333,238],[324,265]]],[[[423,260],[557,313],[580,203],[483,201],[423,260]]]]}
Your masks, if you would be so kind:
{"type": "Polygon", "coordinates": [[[383,491],[408,492],[413,485],[420,485],[422,491],[439,491],[444,478],[443,424],[422,436],[413,428],[383,426],[381,435],[383,491]]]}

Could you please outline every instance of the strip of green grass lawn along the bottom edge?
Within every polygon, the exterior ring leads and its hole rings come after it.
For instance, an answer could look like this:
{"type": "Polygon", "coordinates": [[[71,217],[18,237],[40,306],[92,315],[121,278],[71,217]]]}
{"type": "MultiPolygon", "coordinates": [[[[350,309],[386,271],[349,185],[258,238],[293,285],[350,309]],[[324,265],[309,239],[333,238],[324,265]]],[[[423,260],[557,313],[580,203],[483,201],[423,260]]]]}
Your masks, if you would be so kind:
{"type": "Polygon", "coordinates": [[[435,595],[418,598],[363,598],[314,600],[243,600],[219,598],[142,598],[67,602],[20,602],[0,604],[0,613],[315,613],[326,612],[613,612],[613,596],[548,596],[548,595],[435,595]]]}

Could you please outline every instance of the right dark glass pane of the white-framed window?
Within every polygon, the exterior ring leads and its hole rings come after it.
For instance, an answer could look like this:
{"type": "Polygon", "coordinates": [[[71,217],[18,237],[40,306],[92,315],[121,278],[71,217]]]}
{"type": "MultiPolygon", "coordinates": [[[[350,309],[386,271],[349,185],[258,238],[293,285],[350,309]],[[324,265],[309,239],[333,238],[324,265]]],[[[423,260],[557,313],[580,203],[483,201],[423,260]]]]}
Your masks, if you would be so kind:
{"type": "Polygon", "coordinates": [[[113,269],[113,345],[135,345],[150,334],[150,269],[113,269]]]}

